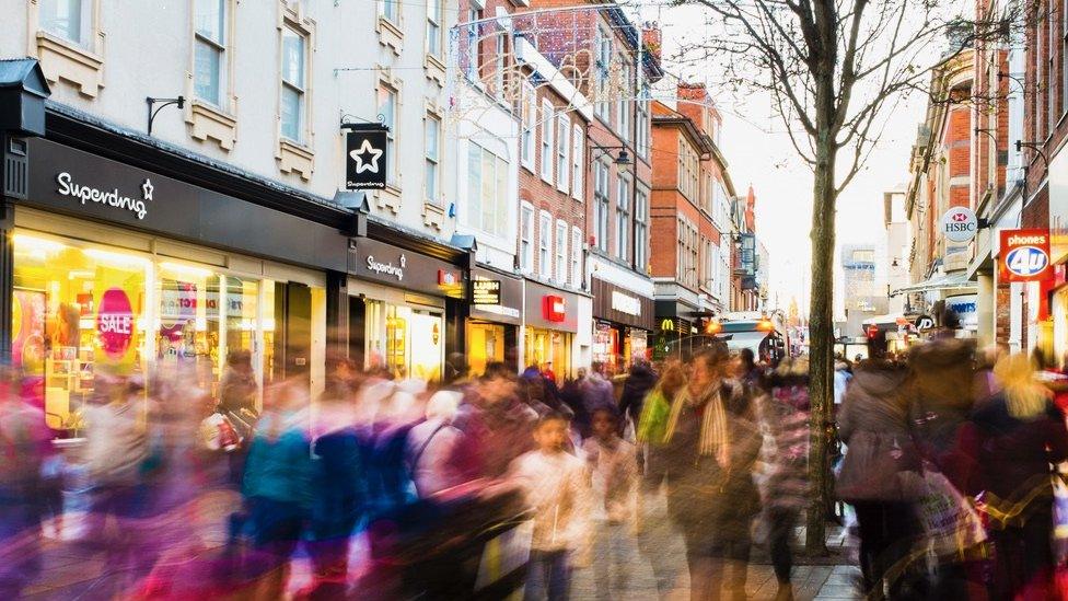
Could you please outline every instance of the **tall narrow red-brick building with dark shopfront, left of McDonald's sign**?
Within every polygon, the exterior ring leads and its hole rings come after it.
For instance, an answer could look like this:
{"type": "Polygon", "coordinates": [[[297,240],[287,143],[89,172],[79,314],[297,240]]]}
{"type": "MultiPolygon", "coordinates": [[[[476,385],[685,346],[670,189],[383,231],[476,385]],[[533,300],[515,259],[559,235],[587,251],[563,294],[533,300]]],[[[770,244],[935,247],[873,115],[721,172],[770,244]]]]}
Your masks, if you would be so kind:
{"type": "Polygon", "coordinates": [[[590,102],[584,206],[592,360],[623,369],[648,356],[653,328],[648,97],[663,76],[660,34],[637,27],[615,2],[532,0],[523,10],[532,12],[518,16],[516,27],[590,102]]]}

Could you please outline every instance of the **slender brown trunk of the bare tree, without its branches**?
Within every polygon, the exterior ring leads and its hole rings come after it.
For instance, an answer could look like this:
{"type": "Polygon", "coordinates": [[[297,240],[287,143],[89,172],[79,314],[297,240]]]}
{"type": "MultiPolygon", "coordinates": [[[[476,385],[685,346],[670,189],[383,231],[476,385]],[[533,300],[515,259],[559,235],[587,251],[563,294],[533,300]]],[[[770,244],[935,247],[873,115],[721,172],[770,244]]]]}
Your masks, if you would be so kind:
{"type": "Polygon", "coordinates": [[[804,547],[810,555],[826,555],[827,502],[833,492],[828,463],[828,427],[834,407],[834,137],[822,130],[816,142],[812,198],[812,290],[809,307],[809,432],[811,483],[804,547]]]}

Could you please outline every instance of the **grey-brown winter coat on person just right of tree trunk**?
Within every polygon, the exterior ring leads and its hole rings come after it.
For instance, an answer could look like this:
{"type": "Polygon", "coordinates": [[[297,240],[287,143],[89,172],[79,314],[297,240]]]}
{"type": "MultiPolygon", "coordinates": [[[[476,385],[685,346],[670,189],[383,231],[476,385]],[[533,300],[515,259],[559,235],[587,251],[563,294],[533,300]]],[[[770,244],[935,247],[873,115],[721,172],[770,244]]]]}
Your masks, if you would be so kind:
{"type": "Polygon", "coordinates": [[[910,500],[919,494],[919,452],[901,396],[904,370],[871,367],[854,373],[838,431],[848,446],[837,481],[847,500],[910,500]]]}

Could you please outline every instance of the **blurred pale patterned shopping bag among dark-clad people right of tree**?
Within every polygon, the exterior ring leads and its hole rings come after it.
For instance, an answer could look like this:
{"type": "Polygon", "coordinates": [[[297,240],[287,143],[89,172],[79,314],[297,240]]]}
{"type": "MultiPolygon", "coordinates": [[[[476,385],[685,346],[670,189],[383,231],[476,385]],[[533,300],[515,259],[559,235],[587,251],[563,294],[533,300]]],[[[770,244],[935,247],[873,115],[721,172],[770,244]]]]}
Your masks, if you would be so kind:
{"type": "Polygon", "coordinates": [[[938,556],[963,556],[987,540],[972,502],[936,470],[924,471],[926,492],[916,505],[931,551],[938,556]]]}

